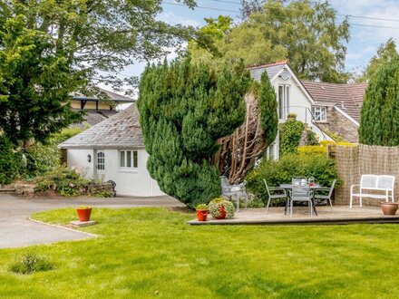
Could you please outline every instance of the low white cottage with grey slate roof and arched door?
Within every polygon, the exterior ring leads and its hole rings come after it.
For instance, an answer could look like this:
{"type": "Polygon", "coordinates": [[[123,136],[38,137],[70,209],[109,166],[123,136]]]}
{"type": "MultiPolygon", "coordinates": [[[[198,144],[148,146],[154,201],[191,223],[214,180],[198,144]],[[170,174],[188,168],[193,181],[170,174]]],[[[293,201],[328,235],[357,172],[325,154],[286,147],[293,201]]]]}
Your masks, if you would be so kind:
{"type": "Polygon", "coordinates": [[[66,150],[68,167],[79,167],[85,178],[112,179],[118,195],[164,195],[147,170],[139,111],[135,103],[58,146],[66,150]]]}

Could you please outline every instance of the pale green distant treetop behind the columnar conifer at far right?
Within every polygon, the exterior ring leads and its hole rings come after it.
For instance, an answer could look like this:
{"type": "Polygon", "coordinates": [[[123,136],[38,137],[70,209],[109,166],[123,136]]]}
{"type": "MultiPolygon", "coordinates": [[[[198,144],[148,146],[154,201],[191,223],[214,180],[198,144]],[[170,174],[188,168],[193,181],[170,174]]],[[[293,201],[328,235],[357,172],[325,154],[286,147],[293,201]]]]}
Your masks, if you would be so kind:
{"type": "Polygon", "coordinates": [[[371,77],[377,72],[384,64],[390,63],[394,57],[398,55],[396,49],[396,43],[391,37],[386,43],[381,44],[378,47],[377,53],[370,59],[369,63],[365,67],[365,70],[357,82],[369,81],[371,77]]]}

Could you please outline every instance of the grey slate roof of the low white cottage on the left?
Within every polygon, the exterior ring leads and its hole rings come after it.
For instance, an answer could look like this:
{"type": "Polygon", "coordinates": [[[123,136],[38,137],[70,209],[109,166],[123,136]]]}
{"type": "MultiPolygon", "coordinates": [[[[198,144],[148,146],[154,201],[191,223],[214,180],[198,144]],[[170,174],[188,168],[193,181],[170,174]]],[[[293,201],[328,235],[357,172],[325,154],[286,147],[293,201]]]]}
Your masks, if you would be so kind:
{"type": "Polygon", "coordinates": [[[139,111],[131,104],[109,119],[58,145],[59,149],[132,149],[144,148],[139,111]]]}

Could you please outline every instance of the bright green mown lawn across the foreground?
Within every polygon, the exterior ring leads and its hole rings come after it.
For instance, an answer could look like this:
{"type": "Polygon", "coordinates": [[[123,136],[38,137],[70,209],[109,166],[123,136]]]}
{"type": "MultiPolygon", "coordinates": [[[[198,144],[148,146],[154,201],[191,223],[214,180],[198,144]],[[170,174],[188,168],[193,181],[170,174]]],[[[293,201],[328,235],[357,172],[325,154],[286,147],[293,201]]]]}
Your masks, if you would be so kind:
{"type": "MultiPolygon", "coordinates": [[[[394,298],[395,225],[202,226],[162,208],[93,210],[101,235],[32,246],[55,269],[8,270],[26,248],[0,250],[1,298],[394,298]]],[[[68,223],[73,209],[35,219],[68,223]]]]}

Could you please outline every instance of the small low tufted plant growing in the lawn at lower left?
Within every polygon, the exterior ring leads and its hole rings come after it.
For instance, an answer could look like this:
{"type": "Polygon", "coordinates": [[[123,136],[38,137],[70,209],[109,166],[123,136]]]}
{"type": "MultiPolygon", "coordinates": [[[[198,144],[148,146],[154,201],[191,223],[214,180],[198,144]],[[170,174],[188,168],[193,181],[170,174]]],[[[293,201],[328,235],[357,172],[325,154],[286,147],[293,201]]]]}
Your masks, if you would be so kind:
{"type": "Polygon", "coordinates": [[[18,258],[13,265],[10,265],[11,272],[23,275],[53,269],[54,265],[44,257],[36,256],[30,252],[27,252],[24,256],[18,258]]]}

